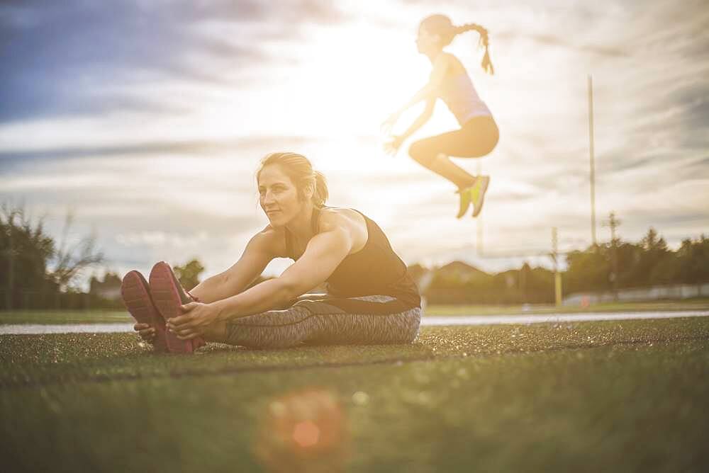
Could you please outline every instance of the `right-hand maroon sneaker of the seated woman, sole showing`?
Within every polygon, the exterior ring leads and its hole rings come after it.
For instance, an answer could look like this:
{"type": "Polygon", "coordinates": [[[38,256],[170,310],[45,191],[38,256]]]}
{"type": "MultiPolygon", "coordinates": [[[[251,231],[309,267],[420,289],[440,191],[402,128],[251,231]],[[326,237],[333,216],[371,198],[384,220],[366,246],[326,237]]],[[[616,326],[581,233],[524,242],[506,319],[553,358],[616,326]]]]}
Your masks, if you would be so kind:
{"type": "MultiPolygon", "coordinates": [[[[150,295],[152,302],[157,307],[157,312],[162,315],[163,329],[167,319],[182,315],[181,305],[199,302],[196,297],[192,297],[189,292],[184,290],[172,272],[172,268],[164,261],[155,263],[150,271],[150,295]]],[[[170,353],[192,353],[205,344],[201,337],[180,340],[176,334],[169,331],[165,332],[165,339],[170,353]]]]}

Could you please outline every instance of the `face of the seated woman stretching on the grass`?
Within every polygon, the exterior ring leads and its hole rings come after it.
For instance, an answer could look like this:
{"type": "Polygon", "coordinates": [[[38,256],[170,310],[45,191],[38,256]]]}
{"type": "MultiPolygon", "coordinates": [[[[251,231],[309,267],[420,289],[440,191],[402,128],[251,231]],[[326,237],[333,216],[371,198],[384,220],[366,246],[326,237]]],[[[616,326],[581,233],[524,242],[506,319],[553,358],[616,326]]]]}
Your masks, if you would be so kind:
{"type": "Polygon", "coordinates": [[[259,203],[273,227],[282,227],[303,210],[298,189],[281,166],[265,166],[259,174],[259,203]]]}

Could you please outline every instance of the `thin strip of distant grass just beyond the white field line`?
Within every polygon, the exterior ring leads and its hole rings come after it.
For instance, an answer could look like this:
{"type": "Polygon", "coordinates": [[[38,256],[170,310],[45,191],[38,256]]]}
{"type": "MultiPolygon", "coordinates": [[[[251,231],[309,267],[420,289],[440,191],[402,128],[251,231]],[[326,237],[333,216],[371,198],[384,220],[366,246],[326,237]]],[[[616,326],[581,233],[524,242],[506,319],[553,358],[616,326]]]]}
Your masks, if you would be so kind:
{"type": "MultiPolygon", "coordinates": [[[[552,305],[429,305],[428,315],[500,315],[500,314],[557,314],[585,312],[646,312],[676,310],[709,310],[709,299],[660,300],[652,302],[619,302],[593,304],[587,308],[554,307],[552,305]]],[[[125,311],[0,311],[0,324],[91,324],[133,322],[125,311]]]]}

